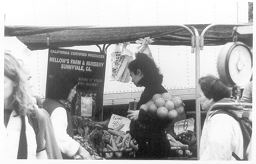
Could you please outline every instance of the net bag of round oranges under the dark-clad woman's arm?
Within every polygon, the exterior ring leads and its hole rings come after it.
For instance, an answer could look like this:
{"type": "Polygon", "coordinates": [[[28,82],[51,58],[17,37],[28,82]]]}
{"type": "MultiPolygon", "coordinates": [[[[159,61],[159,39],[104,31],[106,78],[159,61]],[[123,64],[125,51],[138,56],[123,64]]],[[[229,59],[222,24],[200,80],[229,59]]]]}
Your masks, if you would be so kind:
{"type": "Polygon", "coordinates": [[[141,110],[155,113],[159,118],[174,119],[184,112],[182,99],[171,93],[155,94],[150,101],[140,106],[141,110]]]}

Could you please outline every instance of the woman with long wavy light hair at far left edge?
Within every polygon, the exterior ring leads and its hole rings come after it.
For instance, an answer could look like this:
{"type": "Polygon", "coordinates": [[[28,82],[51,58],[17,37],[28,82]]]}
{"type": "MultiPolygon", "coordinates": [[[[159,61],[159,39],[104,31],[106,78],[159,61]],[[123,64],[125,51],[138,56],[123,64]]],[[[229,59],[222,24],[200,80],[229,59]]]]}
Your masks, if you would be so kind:
{"type": "MultiPolygon", "coordinates": [[[[4,125],[7,140],[3,158],[36,159],[36,137],[27,114],[34,108],[22,68],[14,56],[4,53],[4,125]]],[[[3,136],[2,136],[3,137],[3,136]]]]}

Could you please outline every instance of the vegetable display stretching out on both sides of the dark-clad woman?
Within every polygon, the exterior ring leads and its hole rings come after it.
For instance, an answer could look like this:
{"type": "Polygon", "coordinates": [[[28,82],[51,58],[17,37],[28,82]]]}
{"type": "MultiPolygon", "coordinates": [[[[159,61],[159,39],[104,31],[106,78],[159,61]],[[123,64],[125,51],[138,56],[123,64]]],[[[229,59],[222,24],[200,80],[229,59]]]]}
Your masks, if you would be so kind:
{"type": "MultiPolygon", "coordinates": [[[[82,137],[82,139],[77,140],[77,142],[79,142],[90,153],[90,155],[93,156],[93,159],[136,159],[136,152],[138,150],[136,141],[133,139],[131,146],[126,144],[126,148],[122,149],[121,141],[124,136],[124,132],[109,129],[109,120],[95,122],[92,119],[85,117],[72,116],[72,122],[74,135],[82,137]]],[[[170,134],[167,134],[167,138],[170,138],[170,134]]],[[[175,138],[179,138],[179,136],[176,136],[175,138]]],[[[183,144],[181,144],[181,146],[182,145],[183,144]]],[[[183,145],[182,148],[172,146],[170,157],[168,157],[167,160],[197,160],[196,157],[196,147],[192,145],[183,145]],[[190,154],[188,152],[190,152],[190,154]]]]}

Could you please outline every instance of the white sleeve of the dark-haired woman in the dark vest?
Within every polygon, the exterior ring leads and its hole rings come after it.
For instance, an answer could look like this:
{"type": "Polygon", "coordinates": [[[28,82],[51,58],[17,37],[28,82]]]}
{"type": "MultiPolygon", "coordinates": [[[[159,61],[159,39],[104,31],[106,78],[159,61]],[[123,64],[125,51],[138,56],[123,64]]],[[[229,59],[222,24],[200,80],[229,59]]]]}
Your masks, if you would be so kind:
{"type": "Polygon", "coordinates": [[[69,157],[74,156],[77,153],[80,144],[67,134],[66,129],[68,121],[66,109],[62,107],[54,109],[50,119],[61,152],[67,154],[69,157]]]}

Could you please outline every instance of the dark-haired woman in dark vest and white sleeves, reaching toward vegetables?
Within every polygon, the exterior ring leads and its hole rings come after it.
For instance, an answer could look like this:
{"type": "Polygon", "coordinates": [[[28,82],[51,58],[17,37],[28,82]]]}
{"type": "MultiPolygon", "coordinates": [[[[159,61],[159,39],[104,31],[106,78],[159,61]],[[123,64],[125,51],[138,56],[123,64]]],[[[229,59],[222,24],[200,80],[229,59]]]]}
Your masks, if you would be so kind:
{"type": "Polygon", "coordinates": [[[54,134],[63,159],[91,160],[89,152],[78,143],[74,136],[71,115],[66,103],[71,103],[76,94],[78,78],[71,73],[56,75],[49,86],[43,107],[50,114],[54,134]]]}

